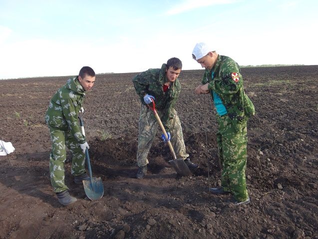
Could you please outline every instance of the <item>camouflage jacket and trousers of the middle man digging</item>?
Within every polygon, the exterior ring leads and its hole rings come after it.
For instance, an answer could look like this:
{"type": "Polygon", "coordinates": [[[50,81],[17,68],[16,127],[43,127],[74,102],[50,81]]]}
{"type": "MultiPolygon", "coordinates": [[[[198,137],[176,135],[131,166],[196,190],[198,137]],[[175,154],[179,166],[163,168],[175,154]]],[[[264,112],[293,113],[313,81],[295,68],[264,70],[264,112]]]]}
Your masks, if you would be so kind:
{"type": "Polygon", "coordinates": [[[181,91],[181,85],[179,80],[176,79],[170,84],[168,91],[164,92],[163,84],[167,81],[165,69],[166,64],[162,64],[161,69],[148,69],[137,74],[132,80],[142,103],[139,117],[137,150],[137,163],[139,167],[148,163],[147,155],[158,128],[158,122],[153,112],[144,102],[144,95],[146,93],[155,97],[158,115],[166,131],[171,133],[171,143],[175,149],[176,156],[183,159],[189,157],[189,154],[186,153],[180,119],[174,109],[181,91]]]}

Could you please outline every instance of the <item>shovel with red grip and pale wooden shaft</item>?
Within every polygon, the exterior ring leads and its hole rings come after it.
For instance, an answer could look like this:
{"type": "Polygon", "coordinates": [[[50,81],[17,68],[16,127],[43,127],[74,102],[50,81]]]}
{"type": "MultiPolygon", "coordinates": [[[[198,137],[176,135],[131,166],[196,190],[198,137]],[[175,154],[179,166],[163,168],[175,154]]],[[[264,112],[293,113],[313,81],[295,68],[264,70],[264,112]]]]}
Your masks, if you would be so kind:
{"type": "MultiPolygon", "coordinates": [[[[157,110],[156,110],[156,107],[155,107],[155,101],[151,98],[151,101],[152,101],[152,107],[148,105],[148,107],[153,111],[161,129],[162,129],[162,132],[164,133],[165,137],[168,138],[168,135],[167,135],[167,132],[166,132],[166,129],[165,127],[163,126],[162,122],[161,122],[161,119],[157,113],[157,110]]],[[[190,176],[192,175],[189,167],[187,166],[187,164],[185,163],[185,161],[182,159],[182,158],[178,158],[176,157],[176,154],[173,150],[173,147],[171,145],[171,142],[170,140],[167,140],[167,143],[169,145],[169,148],[170,148],[170,151],[172,153],[172,156],[173,156],[173,160],[169,160],[169,163],[174,167],[174,169],[177,171],[177,173],[179,173],[181,176],[190,176]]]]}

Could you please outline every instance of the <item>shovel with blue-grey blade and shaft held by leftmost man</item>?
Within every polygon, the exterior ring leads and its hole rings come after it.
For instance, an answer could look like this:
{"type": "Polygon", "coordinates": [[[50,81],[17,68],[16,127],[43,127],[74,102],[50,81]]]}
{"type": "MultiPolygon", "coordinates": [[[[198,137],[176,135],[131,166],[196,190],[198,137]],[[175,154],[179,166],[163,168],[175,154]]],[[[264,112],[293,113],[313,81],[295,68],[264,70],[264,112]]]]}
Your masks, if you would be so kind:
{"type": "MultiPolygon", "coordinates": [[[[85,136],[83,118],[82,118],[82,116],[78,116],[78,118],[79,118],[79,123],[80,123],[80,128],[81,128],[82,134],[85,136]]],[[[103,196],[104,185],[103,185],[103,182],[101,181],[100,177],[96,178],[96,177],[92,176],[92,169],[90,167],[90,160],[89,160],[87,148],[85,150],[85,158],[86,158],[87,168],[88,168],[88,172],[89,172],[89,180],[83,180],[84,190],[85,190],[85,193],[89,199],[96,200],[96,199],[99,199],[103,196]]]]}

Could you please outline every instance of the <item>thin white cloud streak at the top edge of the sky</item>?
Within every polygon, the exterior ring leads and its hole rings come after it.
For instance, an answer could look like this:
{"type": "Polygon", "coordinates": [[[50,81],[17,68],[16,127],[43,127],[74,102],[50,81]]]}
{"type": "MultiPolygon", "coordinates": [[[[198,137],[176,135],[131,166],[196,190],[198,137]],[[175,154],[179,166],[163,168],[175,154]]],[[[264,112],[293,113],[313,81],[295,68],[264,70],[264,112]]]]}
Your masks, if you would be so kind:
{"type": "Polygon", "coordinates": [[[185,11],[189,11],[194,8],[203,6],[217,5],[217,4],[229,4],[236,2],[237,0],[185,0],[179,3],[165,12],[166,15],[175,15],[185,11]]]}

